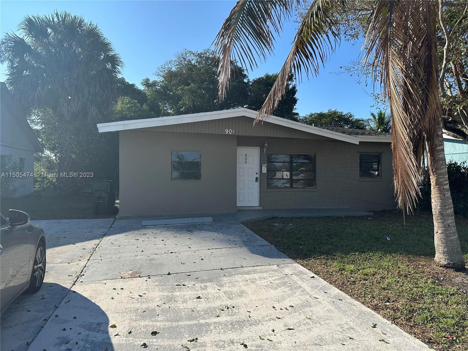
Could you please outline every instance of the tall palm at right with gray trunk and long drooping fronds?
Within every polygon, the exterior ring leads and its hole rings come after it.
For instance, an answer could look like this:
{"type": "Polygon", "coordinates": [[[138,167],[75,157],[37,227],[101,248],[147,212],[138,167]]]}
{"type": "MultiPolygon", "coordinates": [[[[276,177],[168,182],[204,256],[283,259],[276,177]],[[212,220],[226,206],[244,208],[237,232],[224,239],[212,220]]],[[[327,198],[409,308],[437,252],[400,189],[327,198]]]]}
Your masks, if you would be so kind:
{"type": "MultiPolygon", "coordinates": [[[[443,8],[439,0],[439,12],[443,8]]],[[[226,95],[231,60],[255,68],[257,59],[274,51],[275,36],[301,1],[239,0],[224,21],[214,46],[219,54],[219,96],[226,95]]],[[[340,14],[345,0],[314,0],[302,18],[292,49],[267,96],[256,122],[267,118],[284,96],[289,74],[316,76],[340,41],[340,14]]],[[[418,183],[424,148],[431,174],[435,263],[464,270],[455,228],[442,139],[436,52],[437,2],[375,1],[363,45],[364,60],[373,68],[388,98],[392,124],[395,193],[404,212],[412,212],[420,195],[418,183]]]]}

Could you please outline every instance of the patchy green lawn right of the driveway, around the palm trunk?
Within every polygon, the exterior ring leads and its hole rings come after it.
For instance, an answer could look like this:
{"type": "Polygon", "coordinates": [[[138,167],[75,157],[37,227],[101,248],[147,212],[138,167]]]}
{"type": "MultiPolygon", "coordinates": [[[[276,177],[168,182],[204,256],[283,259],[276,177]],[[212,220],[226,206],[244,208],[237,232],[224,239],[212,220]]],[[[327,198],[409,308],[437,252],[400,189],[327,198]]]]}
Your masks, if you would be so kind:
{"type": "MultiPolygon", "coordinates": [[[[468,275],[433,264],[432,215],[266,219],[247,227],[438,350],[468,350],[468,275]],[[390,240],[384,237],[390,237],[390,240]]],[[[456,217],[468,260],[468,219],[456,217]]]]}

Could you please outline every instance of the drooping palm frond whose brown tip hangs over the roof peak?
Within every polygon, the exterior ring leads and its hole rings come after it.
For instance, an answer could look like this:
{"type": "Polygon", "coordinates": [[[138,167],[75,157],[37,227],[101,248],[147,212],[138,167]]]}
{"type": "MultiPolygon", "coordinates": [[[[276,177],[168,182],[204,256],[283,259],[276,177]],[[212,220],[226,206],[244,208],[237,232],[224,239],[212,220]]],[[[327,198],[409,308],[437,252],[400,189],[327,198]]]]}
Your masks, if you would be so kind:
{"type": "Polygon", "coordinates": [[[278,74],[255,122],[264,120],[285,95],[291,73],[302,80],[302,72],[316,76],[339,40],[339,20],[336,17],[342,1],[315,0],[307,10],[294,37],[292,49],[278,74]]]}

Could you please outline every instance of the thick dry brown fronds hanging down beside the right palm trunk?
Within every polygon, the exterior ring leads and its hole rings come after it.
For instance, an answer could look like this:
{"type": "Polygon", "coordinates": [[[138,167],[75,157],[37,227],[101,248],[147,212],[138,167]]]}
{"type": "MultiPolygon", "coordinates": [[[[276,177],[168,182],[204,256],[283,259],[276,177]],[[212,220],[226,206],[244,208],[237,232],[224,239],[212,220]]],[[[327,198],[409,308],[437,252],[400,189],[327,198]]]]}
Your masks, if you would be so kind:
{"type": "Polygon", "coordinates": [[[441,116],[435,45],[435,2],[376,2],[363,47],[388,96],[395,194],[407,212],[420,195],[424,145],[431,153],[441,116]]]}

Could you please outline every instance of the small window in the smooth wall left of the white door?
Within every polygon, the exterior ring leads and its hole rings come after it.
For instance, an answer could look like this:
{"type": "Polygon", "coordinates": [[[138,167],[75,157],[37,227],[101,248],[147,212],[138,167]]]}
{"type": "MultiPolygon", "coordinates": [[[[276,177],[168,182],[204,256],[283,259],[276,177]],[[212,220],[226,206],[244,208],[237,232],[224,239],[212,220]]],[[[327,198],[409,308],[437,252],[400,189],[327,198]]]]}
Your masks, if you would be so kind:
{"type": "Polygon", "coordinates": [[[196,151],[171,151],[172,180],[200,180],[201,153],[196,151]]]}

